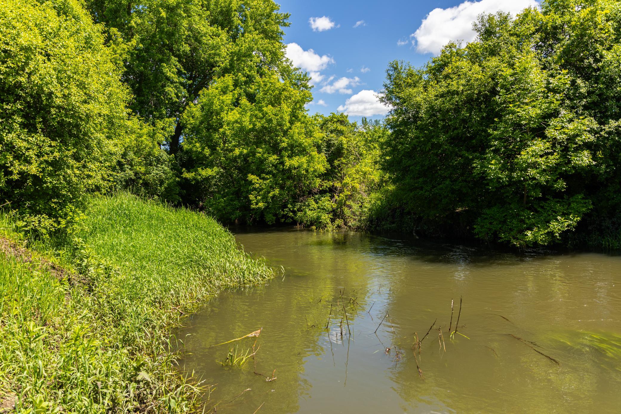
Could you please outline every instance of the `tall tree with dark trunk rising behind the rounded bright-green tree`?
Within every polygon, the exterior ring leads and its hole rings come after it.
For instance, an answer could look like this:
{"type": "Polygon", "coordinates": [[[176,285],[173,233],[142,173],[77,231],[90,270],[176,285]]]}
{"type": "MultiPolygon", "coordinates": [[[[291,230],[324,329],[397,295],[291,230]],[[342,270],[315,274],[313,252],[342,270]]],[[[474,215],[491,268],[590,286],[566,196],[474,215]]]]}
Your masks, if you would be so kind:
{"type": "MultiPolygon", "coordinates": [[[[108,44],[124,64],[131,108],[166,136],[171,154],[183,141],[186,109],[214,80],[232,76],[252,88],[283,65],[288,14],[271,0],[88,0],[108,44]]],[[[248,89],[248,93],[253,93],[248,89]]]]}

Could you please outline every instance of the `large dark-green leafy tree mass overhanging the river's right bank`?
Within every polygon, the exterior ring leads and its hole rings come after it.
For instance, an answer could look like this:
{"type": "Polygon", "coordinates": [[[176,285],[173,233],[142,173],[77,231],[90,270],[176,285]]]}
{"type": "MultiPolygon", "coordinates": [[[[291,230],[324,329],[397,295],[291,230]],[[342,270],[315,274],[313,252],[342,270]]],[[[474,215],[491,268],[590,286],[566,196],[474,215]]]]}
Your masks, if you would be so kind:
{"type": "Polygon", "coordinates": [[[545,1],[481,16],[425,67],[391,64],[384,167],[419,226],[532,246],[616,213],[620,24],[619,2],[545,1]]]}

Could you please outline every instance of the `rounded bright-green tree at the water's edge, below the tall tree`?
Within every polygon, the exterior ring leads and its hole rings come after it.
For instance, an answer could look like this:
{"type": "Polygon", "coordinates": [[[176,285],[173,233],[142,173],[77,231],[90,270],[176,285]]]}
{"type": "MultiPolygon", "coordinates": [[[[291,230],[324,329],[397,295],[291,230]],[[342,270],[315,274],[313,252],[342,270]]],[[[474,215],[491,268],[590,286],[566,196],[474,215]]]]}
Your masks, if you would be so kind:
{"type": "MultiPolygon", "coordinates": [[[[304,82],[306,83],[306,82],[304,82]]],[[[248,94],[234,76],[218,78],[186,113],[179,159],[186,194],[223,221],[290,219],[292,203],[319,186],[319,130],[295,80],[273,74],[248,94]]]]}

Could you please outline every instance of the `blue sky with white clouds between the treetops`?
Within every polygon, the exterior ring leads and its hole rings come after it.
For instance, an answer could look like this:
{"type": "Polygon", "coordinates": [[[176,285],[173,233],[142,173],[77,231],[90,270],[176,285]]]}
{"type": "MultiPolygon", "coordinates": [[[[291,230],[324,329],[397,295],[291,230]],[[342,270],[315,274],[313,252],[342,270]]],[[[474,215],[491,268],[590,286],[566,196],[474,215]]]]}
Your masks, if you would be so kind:
{"type": "Polygon", "coordinates": [[[289,12],[287,56],[312,76],[311,113],[345,112],[352,120],[381,118],[376,94],[392,60],[416,66],[448,40],[473,40],[481,12],[513,15],[535,0],[343,1],[276,0],[289,12]]]}

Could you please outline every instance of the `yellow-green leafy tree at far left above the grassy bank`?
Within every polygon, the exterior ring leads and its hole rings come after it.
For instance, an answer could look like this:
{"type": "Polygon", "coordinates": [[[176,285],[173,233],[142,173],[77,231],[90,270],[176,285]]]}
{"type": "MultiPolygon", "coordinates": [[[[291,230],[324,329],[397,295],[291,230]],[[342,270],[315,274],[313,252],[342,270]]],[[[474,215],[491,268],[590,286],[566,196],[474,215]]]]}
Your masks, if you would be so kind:
{"type": "Polygon", "coordinates": [[[0,197],[40,231],[66,228],[116,177],[127,89],[74,0],[0,2],[0,197]]]}

